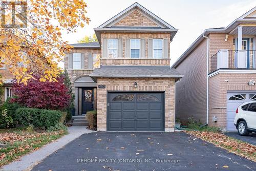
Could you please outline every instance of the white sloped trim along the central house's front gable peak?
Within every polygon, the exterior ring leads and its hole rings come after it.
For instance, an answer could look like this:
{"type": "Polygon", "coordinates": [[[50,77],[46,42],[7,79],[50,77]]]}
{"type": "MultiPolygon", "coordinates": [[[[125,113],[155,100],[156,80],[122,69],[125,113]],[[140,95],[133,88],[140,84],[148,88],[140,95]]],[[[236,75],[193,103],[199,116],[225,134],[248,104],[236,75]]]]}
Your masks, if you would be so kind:
{"type": "MultiPolygon", "coordinates": [[[[108,21],[106,21],[105,23],[103,23],[102,25],[100,25],[98,28],[104,28],[106,26],[108,26],[109,24],[111,24],[112,22],[114,22],[114,20],[118,19],[119,17],[121,17],[122,15],[124,15],[125,13],[129,12],[130,10],[132,10],[133,8],[139,8],[142,11],[145,11],[146,13],[148,13],[149,15],[151,15],[153,18],[156,18],[160,23],[162,23],[163,25],[165,25],[166,27],[168,27],[169,29],[175,29],[173,26],[170,26],[168,23],[164,22],[164,20],[162,20],[161,18],[159,18],[158,16],[156,16],[155,14],[153,14],[152,12],[148,11],[146,8],[142,7],[141,5],[139,5],[138,3],[134,3],[133,5],[131,5],[130,7],[126,8],[125,10],[123,10],[122,12],[118,13],[116,16],[112,17],[111,19],[109,19],[108,21]]],[[[158,24],[159,25],[159,24],[158,24]]]]}

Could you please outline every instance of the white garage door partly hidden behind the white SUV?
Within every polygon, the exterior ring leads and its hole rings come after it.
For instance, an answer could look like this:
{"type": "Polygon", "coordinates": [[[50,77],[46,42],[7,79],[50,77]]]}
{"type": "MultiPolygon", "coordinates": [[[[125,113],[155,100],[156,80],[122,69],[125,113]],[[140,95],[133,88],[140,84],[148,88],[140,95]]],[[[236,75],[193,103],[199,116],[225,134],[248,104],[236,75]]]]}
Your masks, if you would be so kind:
{"type": "Polygon", "coordinates": [[[256,100],[256,92],[232,92],[227,94],[227,131],[237,131],[233,122],[236,110],[239,105],[251,100],[256,100]]]}

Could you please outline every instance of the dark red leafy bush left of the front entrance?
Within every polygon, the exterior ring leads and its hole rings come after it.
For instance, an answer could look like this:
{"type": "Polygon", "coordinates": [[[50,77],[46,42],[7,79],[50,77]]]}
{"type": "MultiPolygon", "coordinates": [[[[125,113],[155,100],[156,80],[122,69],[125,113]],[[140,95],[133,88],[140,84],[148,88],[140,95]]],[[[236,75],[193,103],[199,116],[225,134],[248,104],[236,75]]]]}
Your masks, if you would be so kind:
{"type": "Polygon", "coordinates": [[[17,102],[29,108],[62,110],[70,104],[71,96],[68,94],[68,88],[63,83],[63,77],[57,78],[58,82],[39,81],[30,79],[27,86],[23,83],[14,83],[13,102],[17,102]]]}

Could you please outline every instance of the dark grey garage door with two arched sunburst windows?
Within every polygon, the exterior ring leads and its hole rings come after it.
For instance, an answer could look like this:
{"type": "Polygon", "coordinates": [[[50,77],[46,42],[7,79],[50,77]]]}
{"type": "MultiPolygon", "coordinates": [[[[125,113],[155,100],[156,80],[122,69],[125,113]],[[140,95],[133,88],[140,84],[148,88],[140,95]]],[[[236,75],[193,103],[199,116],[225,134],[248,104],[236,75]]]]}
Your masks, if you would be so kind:
{"type": "Polygon", "coordinates": [[[109,92],[108,131],[163,131],[163,93],[109,92]]]}

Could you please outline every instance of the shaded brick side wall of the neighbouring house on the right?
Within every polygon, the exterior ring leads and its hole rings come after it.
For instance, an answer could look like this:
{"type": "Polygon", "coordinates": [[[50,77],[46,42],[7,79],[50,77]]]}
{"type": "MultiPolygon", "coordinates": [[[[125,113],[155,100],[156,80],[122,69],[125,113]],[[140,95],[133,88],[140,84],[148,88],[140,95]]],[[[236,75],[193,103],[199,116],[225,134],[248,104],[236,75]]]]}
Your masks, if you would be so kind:
{"type": "Polygon", "coordinates": [[[176,68],[184,77],[176,83],[176,118],[186,123],[189,117],[206,122],[207,40],[191,52],[176,68]]]}

